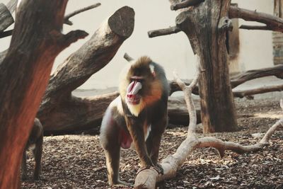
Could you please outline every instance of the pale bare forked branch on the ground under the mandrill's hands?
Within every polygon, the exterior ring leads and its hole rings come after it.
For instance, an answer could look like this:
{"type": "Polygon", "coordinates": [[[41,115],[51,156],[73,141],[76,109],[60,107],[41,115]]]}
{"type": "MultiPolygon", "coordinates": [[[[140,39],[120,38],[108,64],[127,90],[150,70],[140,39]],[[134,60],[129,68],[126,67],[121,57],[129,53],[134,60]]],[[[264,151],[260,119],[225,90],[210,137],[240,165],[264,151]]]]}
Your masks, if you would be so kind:
{"type": "MultiPolygon", "coordinates": [[[[260,142],[253,145],[243,146],[235,142],[224,142],[221,139],[216,139],[214,137],[203,137],[198,138],[195,133],[195,127],[197,125],[195,116],[195,106],[192,101],[192,88],[194,88],[199,80],[201,69],[200,62],[198,58],[197,62],[197,76],[192,81],[190,86],[186,86],[183,81],[178,79],[177,74],[175,74],[175,82],[180,86],[180,88],[185,93],[185,101],[187,103],[187,110],[190,115],[190,125],[187,132],[187,138],[180,144],[177,151],[173,155],[167,156],[161,162],[163,168],[163,175],[158,175],[157,171],[154,168],[145,169],[138,173],[136,181],[134,183],[134,188],[155,188],[156,181],[163,181],[167,178],[172,178],[176,175],[178,167],[181,166],[184,161],[187,159],[187,156],[192,153],[193,150],[201,147],[214,147],[219,151],[220,156],[224,156],[226,150],[235,151],[238,154],[243,154],[250,151],[258,151],[267,145],[268,140],[271,135],[277,130],[280,126],[283,126],[283,118],[275,123],[265,134],[260,142]]],[[[281,101],[281,106],[283,109],[283,101],[281,101]]]]}

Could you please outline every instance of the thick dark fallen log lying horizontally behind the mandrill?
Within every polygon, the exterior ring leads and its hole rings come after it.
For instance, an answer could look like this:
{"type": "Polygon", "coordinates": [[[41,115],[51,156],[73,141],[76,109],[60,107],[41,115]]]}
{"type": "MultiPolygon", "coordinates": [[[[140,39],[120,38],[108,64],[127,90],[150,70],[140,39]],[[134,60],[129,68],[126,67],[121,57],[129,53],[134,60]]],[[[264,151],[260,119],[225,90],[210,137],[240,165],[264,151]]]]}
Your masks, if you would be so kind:
{"type": "MultiPolygon", "coordinates": [[[[98,134],[106,108],[118,95],[118,92],[113,92],[89,98],[72,96],[71,101],[63,102],[60,107],[47,115],[47,119],[52,119],[47,120],[48,127],[45,125],[45,136],[82,132],[98,134]]],[[[195,101],[195,103],[198,104],[197,123],[200,123],[200,102],[195,101]]],[[[171,125],[189,125],[190,119],[183,97],[169,97],[168,118],[171,125]]]]}

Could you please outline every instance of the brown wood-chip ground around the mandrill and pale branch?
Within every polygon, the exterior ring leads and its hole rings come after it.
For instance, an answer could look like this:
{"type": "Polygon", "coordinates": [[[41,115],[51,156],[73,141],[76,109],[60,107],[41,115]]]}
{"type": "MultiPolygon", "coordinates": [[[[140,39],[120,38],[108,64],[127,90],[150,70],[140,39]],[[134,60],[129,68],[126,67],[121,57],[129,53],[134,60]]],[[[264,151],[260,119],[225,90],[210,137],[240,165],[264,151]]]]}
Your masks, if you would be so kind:
{"type": "MultiPolygon", "coordinates": [[[[239,132],[206,134],[225,141],[255,144],[253,133],[266,132],[281,116],[279,101],[236,101],[239,132]]],[[[187,127],[166,130],[160,159],[173,154],[185,139],[187,127]]],[[[204,134],[199,133],[200,137],[204,134]]],[[[31,180],[33,159],[28,159],[30,179],[23,188],[110,188],[105,157],[98,136],[65,135],[45,137],[42,155],[42,181],[31,180]]],[[[122,151],[120,176],[134,183],[139,159],[134,150],[122,151]]],[[[212,148],[197,149],[178,169],[175,178],[158,183],[158,188],[283,188],[283,131],[258,152],[238,155],[226,151],[220,159],[212,148]]],[[[126,187],[120,187],[126,188],[126,187]]]]}

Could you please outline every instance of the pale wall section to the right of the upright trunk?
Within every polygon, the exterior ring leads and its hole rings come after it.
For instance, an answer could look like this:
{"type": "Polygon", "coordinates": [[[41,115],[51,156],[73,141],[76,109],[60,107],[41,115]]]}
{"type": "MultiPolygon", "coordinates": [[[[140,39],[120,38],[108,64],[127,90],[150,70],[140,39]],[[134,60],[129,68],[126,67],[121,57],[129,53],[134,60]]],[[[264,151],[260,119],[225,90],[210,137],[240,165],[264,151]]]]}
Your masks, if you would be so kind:
{"type": "MultiPolygon", "coordinates": [[[[232,0],[238,7],[258,12],[273,14],[272,0],[232,0]]],[[[260,25],[256,22],[246,22],[239,19],[239,26],[260,25]]],[[[240,53],[238,56],[239,71],[260,69],[273,66],[272,32],[265,30],[239,30],[240,53]]]]}

